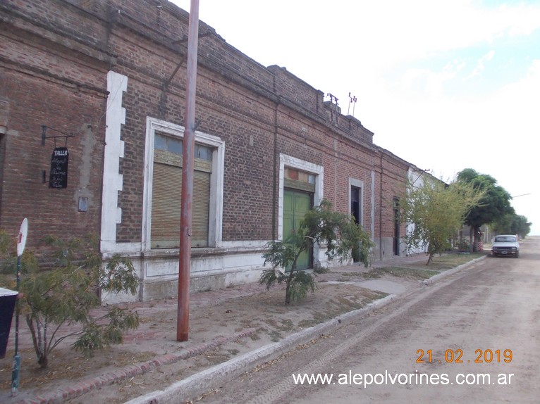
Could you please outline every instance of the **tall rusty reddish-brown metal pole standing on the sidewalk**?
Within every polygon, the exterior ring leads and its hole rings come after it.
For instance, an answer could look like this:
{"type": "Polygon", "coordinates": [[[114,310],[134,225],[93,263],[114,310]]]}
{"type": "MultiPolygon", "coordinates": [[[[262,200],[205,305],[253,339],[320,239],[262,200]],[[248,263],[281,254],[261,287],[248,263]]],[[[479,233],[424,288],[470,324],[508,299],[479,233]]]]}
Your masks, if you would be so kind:
{"type": "Polygon", "coordinates": [[[198,42],[199,0],[191,0],[182,153],[182,200],[180,203],[180,256],[178,258],[178,317],[176,322],[176,341],[188,341],[190,329],[191,225],[193,206],[193,168],[195,165],[195,85],[197,84],[198,42]]]}

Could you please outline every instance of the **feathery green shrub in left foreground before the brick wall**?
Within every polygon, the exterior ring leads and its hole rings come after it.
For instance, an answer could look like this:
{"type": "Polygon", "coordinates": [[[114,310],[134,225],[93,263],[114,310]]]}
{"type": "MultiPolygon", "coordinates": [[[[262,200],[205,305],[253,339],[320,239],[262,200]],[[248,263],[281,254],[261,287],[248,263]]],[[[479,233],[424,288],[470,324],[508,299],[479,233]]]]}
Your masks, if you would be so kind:
{"type": "MultiPolygon", "coordinates": [[[[23,255],[25,270],[20,282],[21,311],[30,328],[39,366],[47,367],[51,351],[70,337],[78,337],[73,348],[87,354],[121,343],[125,330],[138,327],[137,313],[118,307],[98,317],[91,312],[100,305],[99,291],[137,292],[133,264],[115,256],[103,265],[91,238],[66,242],[49,236],[45,241],[54,251],[53,269],[40,271],[33,255],[23,255]],[[63,324],[80,324],[80,328],[60,335],[63,324]]],[[[10,262],[10,258],[4,259],[4,264],[10,262]]]]}

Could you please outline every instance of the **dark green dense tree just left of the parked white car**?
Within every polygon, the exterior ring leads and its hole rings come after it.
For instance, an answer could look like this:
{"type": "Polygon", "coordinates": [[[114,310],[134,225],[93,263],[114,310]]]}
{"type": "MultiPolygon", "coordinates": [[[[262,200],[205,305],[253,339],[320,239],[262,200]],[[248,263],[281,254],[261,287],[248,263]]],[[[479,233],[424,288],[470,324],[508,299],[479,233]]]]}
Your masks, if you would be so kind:
{"type": "Polygon", "coordinates": [[[510,206],[512,196],[491,175],[479,174],[472,168],[465,168],[458,172],[458,182],[470,184],[475,189],[484,191],[480,203],[474,206],[465,216],[465,225],[471,227],[471,244],[473,251],[477,251],[481,225],[496,222],[507,214],[514,214],[510,206]]]}

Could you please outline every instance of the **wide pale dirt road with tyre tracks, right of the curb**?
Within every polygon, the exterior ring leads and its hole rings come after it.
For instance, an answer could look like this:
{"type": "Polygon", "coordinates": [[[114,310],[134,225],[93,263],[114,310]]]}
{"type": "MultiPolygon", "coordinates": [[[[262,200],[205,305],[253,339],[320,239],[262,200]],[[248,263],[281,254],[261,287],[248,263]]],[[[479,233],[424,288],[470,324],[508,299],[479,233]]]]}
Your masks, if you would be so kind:
{"type": "Polygon", "coordinates": [[[481,260],[200,403],[538,403],[539,260],[540,239],[528,240],[519,259],[481,260]]]}

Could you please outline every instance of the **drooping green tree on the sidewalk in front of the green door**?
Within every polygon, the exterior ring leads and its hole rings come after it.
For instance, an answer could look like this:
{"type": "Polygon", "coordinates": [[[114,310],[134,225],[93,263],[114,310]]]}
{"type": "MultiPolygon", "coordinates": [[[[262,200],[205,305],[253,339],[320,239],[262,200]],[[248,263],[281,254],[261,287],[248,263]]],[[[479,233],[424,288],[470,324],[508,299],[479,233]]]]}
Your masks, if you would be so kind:
{"type": "Polygon", "coordinates": [[[369,234],[352,216],[332,210],[331,203],[323,200],[305,214],[297,232],[285,241],[267,244],[268,250],[262,256],[264,265],[270,263],[272,267],[263,270],[259,282],[266,284],[266,289],[285,282],[285,304],[302,301],[309,291],[314,291],[315,283],[313,275],[297,270],[296,264],[300,254],[316,243],[326,244],[326,256],[331,260],[337,257],[340,263],[350,258],[352,248],[357,248],[358,258],[366,267],[374,246],[369,234]],[[288,267],[287,272],[284,268],[288,267]]]}

